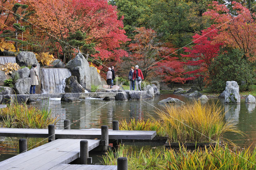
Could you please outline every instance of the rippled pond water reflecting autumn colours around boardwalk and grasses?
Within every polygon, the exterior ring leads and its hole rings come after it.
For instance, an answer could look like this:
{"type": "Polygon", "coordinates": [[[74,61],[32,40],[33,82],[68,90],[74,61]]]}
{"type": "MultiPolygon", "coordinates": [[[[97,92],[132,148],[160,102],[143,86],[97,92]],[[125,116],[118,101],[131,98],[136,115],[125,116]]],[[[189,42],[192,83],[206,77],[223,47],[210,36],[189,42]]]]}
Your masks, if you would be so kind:
{"type": "MultiPolygon", "coordinates": [[[[101,125],[108,125],[109,128],[112,128],[113,120],[141,119],[149,116],[157,118],[154,111],[156,108],[162,108],[157,103],[168,97],[178,98],[184,102],[193,102],[193,98],[164,93],[149,100],[104,101],[102,99],[87,98],[81,100],[81,102],[64,103],[60,102],[58,98],[53,98],[49,101],[39,100],[33,105],[39,108],[48,105],[54,115],[58,115],[60,119],[56,125],[57,129],[64,127],[63,122],[65,119],[70,120],[72,129],[100,128],[101,125]]],[[[218,99],[213,98],[208,102],[216,103],[218,99]]],[[[224,104],[223,100],[220,100],[220,104],[222,104],[226,112],[225,119],[232,119],[238,129],[245,133],[244,136],[227,133],[224,138],[232,140],[242,148],[248,148],[251,144],[254,147],[256,142],[256,104],[245,104],[244,99],[241,100],[241,104],[224,104]]],[[[17,142],[18,138],[0,138],[0,161],[17,154],[17,142]]]]}

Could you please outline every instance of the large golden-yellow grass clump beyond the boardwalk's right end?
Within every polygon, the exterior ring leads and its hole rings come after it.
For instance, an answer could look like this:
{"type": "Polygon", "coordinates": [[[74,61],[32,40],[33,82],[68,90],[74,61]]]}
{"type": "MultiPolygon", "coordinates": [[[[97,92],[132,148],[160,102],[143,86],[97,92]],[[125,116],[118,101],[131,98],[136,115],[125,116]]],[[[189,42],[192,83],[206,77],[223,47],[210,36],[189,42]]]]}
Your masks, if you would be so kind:
{"type": "Polygon", "coordinates": [[[156,114],[163,121],[170,142],[213,142],[226,132],[242,134],[231,120],[225,121],[224,108],[218,103],[166,105],[163,110],[156,110],[156,114]]]}

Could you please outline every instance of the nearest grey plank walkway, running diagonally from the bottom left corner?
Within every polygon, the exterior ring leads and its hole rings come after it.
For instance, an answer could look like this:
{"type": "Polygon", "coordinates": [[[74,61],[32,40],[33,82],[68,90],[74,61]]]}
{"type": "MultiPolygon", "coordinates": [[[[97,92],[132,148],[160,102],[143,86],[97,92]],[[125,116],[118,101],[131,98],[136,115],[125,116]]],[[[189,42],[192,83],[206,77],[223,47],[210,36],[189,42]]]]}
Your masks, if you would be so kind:
{"type": "MultiPolygon", "coordinates": [[[[116,170],[117,166],[71,165],[80,157],[82,139],[57,139],[0,162],[0,170],[116,170]]],[[[88,150],[100,145],[100,140],[88,141],[88,150]]]]}

